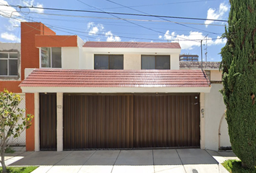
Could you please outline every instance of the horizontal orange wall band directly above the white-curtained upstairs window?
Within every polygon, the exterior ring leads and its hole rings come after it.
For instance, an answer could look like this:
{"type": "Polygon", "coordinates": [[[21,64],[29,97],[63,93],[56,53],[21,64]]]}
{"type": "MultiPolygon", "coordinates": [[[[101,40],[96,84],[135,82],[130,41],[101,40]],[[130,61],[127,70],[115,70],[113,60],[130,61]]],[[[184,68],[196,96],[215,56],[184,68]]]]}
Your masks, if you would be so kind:
{"type": "Polygon", "coordinates": [[[35,47],[77,47],[77,35],[35,35],[35,47]]]}

